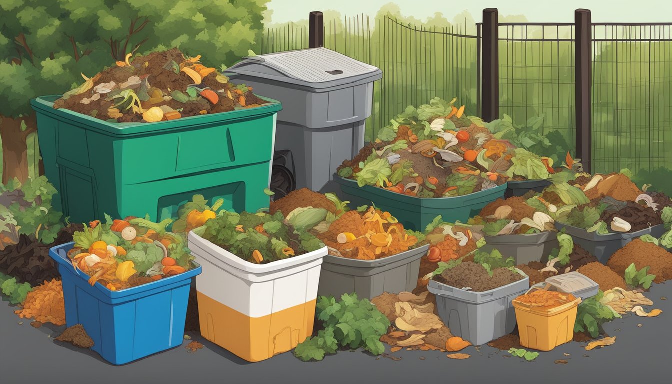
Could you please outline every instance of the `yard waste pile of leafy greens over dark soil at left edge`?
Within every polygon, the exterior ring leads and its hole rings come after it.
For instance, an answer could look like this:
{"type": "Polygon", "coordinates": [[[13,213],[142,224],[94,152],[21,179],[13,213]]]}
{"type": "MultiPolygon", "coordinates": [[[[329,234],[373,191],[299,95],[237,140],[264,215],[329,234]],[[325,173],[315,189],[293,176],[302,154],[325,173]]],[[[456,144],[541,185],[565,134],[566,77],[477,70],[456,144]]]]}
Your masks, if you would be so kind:
{"type": "Polygon", "coordinates": [[[54,195],[44,176],[0,184],[0,272],[32,286],[60,276],[49,249],[72,241],[81,226],[62,224],[54,195]]]}

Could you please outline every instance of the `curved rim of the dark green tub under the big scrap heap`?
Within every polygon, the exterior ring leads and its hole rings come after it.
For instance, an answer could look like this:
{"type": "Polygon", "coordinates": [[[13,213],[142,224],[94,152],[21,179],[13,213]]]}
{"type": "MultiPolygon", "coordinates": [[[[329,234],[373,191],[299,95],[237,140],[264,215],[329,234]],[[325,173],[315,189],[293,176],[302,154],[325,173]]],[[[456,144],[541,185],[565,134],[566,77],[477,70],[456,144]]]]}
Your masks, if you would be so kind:
{"type": "Polygon", "coordinates": [[[496,186],[495,188],[490,188],[488,190],[481,190],[478,192],[466,194],[464,196],[454,196],[454,197],[437,197],[437,198],[420,198],[415,196],[408,196],[405,194],[398,194],[396,192],[384,190],[382,188],[377,188],[374,186],[363,186],[360,187],[355,180],[350,180],[334,174],[334,181],[342,186],[356,186],[362,190],[366,190],[376,196],[386,198],[398,202],[400,204],[412,204],[414,206],[425,206],[425,208],[438,208],[445,209],[447,208],[446,204],[466,204],[468,200],[472,198],[480,198],[485,196],[490,196],[497,193],[503,193],[507,187],[508,182],[502,184],[501,186],[496,186]]]}

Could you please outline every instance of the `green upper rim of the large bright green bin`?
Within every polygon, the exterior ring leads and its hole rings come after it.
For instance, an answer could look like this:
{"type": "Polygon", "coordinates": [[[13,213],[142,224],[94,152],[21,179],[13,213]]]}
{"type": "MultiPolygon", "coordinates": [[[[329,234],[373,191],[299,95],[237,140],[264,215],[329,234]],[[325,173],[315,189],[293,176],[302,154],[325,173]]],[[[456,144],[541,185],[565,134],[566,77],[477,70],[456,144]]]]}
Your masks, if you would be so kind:
{"type": "Polygon", "coordinates": [[[272,115],[282,110],[282,104],[277,100],[257,96],[270,104],[264,104],[257,108],[245,108],[222,112],[218,114],[206,114],[202,116],[190,116],[179,118],[177,120],[161,122],[107,122],[85,114],[80,114],[64,108],[54,109],[54,102],[62,95],[45,95],[30,100],[30,105],[36,112],[47,114],[59,120],[69,120],[87,130],[104,133],[113,137],[127,137],[130,135],[148,135],[152,133],[162,133],[171,130],[181,130],[200,125],[210,125],[213,123],[226,123],[245,118],[257,118],[259,116],[272,115]]]}

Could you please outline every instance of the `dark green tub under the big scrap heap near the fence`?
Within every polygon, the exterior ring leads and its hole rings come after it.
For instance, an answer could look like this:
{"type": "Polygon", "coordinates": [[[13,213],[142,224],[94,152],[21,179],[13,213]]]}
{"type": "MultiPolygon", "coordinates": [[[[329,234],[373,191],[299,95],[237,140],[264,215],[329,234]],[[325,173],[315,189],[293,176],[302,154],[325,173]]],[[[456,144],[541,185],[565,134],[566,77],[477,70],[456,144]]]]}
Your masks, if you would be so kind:
{"type": "Polygon", "coordinates": [[[354,180],[341,178],[338,175],[334,175],[334,180],[341,186],[341,198],[351,202],[352,206],[373,203],[376,208],[391,213],[405,228],[414,231],[424,231],[425,227],[439,215],[446,223],[456,221],[466,223],[470,217],[478,215],[487,204],[503,198],[507,188],[505,183],[465,196],[418,198],[373,186],[360,188],[354,180]]]}

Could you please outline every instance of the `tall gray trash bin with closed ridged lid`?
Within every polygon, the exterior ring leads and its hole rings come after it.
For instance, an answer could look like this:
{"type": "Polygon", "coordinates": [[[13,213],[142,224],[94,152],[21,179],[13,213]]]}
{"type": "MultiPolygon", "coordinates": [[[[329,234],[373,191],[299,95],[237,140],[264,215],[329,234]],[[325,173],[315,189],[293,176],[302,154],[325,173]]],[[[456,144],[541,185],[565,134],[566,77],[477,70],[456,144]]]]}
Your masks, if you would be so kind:
{"type": "Polygon", "coordinates": [[[293,50],[244,59],[227,70],[255,93],[282,102],[276,151],[292,151],[296,188],[338,190],[336,168],[364,147],[374,81],[380,69],[327,48],[293,50]]]}

